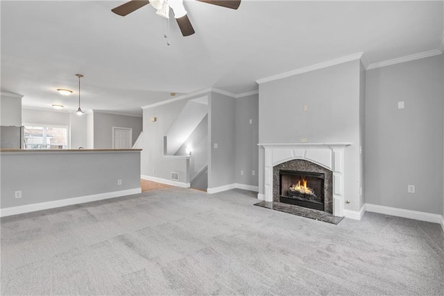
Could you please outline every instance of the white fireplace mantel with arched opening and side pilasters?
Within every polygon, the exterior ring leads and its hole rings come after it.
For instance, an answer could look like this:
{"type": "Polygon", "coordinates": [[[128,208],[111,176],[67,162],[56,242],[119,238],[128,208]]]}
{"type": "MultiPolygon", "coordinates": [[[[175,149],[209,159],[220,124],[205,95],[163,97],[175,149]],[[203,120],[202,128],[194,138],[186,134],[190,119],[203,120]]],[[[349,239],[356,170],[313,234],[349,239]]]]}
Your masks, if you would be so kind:
{"type": "Polygon", "coordinates": [[[273,202],[273,167],[294,159],[311,161],[332,171],[332,214],[343,217],[344,149],[349,142],[259,144],[264,147],[264,201],[273,202]]]}

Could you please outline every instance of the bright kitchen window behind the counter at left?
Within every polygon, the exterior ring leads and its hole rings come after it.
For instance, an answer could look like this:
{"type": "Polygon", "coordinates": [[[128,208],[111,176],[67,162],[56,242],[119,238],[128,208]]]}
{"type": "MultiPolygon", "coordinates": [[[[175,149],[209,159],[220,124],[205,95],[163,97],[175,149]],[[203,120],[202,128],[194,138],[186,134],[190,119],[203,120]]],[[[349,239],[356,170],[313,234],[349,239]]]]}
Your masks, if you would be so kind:
{"type": "Polygon", "coordinates": [[[68,149],[68,126],[25,124],[26,149],[68,149]]]}

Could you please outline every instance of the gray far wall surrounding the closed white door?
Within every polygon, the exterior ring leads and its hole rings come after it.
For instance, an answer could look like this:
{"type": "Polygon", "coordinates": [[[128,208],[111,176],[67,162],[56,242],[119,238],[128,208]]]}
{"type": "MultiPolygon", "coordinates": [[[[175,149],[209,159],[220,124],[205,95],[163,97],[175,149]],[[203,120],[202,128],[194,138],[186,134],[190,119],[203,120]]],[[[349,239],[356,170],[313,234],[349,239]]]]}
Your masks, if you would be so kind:
{"type": "Polygon", "coordinates": [[[112,149],[112,127],[133,129],[133,143],[142,131],[142,117],[94,111],[94,149],[112,149]]]}

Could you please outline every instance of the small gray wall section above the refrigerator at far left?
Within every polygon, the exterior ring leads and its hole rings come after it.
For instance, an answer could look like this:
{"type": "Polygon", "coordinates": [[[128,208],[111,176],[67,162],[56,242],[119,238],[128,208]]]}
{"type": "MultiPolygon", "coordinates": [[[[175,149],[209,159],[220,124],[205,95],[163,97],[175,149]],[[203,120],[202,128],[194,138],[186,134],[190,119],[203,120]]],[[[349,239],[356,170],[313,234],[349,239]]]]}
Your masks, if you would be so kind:
{"type": "Polygon", "coordinates": [[[22,125],[22,98],[17,94],[0,94],[0,125],[22,125]]]}

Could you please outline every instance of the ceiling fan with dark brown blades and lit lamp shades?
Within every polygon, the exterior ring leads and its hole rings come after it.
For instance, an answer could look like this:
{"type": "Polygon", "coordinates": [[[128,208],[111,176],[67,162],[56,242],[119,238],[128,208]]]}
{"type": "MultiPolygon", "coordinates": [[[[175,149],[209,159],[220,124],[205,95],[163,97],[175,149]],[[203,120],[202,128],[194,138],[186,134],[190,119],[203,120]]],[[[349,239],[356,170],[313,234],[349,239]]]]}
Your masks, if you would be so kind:
{"type": "MultiPolygon", "coordinates": [[[[217,6],[222,6],[231,9],[239,8],[241,0],[196,0],[203,3],[214,4],[217,6]]],[[[187,10],[183,6],[183,0],[131,0],[113,8],[111,11],[117,15],[124,17],[133,11],[146,6],[146,4],[151,4],[155,9],[157,9],[156,15],[161,17],[169,18],[169,8],[173,10],[174,18],[178,22],[180,31],[182,35],[189,36],[194,34],[194,28],[189,22],[187,17],[187,10]]]]}

